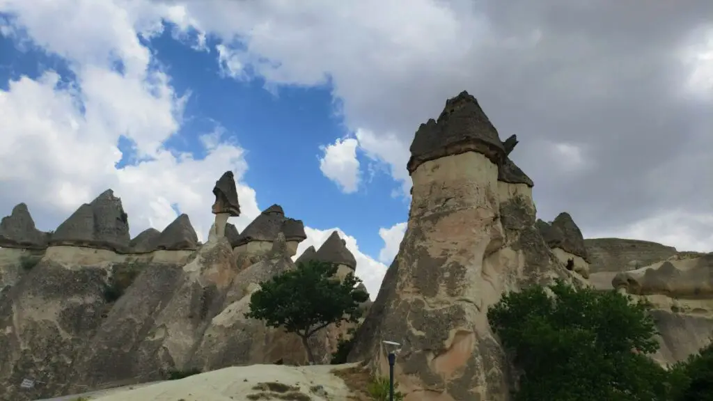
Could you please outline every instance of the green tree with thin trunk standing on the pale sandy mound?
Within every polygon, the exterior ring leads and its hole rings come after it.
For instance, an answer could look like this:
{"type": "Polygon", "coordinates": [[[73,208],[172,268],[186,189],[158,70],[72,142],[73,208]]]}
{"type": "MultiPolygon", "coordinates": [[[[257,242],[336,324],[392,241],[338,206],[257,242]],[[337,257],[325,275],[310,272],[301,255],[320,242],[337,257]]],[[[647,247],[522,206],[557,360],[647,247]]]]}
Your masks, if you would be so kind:
{"type": "Polygon", "coordinates": [[[335,273],[337,265],[332,263],[317,260],[300,263],[297,269],[261,283],[260,290],[250,298],[250,312],[245,316],[297,334],[309,363],[313,364],[309,337],[332,323],[356,322],[361,317],[359,304],[369,298],[356,289],[361,280],[353,273],[344,280],[339,280],[335,273]]]}

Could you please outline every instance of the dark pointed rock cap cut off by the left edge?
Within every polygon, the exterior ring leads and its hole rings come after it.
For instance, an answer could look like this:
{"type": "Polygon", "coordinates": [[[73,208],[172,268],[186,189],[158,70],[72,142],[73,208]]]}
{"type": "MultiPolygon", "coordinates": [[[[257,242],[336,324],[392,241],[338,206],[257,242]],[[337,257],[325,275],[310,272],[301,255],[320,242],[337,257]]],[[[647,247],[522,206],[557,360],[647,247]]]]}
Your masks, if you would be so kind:
{"type": "Polygon", "coordinates": [[[47,248],[48,233],[35,227],[27,205],[19,203],[9,216],[0,220],[0,246],[7,248],[47,248]]]}

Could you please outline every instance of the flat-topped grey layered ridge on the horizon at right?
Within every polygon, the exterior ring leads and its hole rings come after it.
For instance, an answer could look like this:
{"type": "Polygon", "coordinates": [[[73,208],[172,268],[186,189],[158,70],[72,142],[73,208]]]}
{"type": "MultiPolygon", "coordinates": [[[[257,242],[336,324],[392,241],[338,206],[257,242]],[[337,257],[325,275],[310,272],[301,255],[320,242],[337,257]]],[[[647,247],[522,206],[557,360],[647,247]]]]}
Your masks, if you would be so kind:
{"type": "Polygon", "coordinates": [[[677,253],[672,246],[642,240],[591,238],[584,242],[592,273],[634,270],[666,260],[677,253]]]}

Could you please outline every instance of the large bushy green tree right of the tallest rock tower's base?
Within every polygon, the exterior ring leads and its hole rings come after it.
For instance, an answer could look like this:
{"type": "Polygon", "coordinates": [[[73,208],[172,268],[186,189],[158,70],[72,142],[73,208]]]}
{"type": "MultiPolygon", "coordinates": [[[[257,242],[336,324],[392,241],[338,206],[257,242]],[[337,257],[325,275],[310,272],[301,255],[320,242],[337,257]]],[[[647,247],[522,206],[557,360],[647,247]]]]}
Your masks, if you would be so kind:
{"type": "Polygon", "coordinates": [[[518,401],[667,400],[650,305],[559,281],[504,295],[488,310],[520,375],[518,401]]]}

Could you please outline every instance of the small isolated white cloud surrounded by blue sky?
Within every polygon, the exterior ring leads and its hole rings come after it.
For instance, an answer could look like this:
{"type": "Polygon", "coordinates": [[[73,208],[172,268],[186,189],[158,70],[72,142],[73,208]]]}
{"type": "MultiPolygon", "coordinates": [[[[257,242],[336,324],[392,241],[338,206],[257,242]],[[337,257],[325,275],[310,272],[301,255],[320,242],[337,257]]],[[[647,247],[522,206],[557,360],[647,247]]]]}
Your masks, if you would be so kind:
{"type": "Polygon", "coordinates": [[[319,170],[325,177],[337,183],[344,193],[354,193],[359,189],[361,171],[356,159],[354,138],[337,139],[332,145],[320,146],[323,155],[319,158],[319,170]]]}

